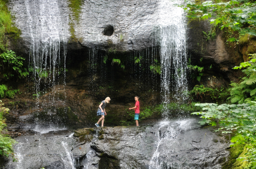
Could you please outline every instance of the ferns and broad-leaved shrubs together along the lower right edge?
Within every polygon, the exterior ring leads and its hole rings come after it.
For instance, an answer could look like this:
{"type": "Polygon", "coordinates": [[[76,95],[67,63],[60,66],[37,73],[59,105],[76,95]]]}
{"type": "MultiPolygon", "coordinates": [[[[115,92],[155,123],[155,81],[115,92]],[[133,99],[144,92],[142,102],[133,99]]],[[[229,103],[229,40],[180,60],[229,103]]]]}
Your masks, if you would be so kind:
{"type": "MultiPolygon", "coordinates": [[[[192,114],[200,115],[202,121],[199,123],[212,124],[216,126],[217,122],[220,128],[215,131],[222,131],[222,133],[233,133],[231,138],[231,147],[244,147],[242,155],[235,157],[241,162],[236,162],[230,156],[223,168],[249,168],[256,167],[256,54],[252,54],[250,61],[243,62],[239,67],[234,69],[242,69],[245,77],[239,83],[231,83],[232,88],[229,89],[232,103],[239,104],[214,104],[214,103],[201,103],[196,106],[203,107],[203,111],[194,112],[192,114]],[[213,119],[218,119],[217,121],[213,119]],[[247,162],[248,163],[247,163],[247,162]],[[232,166],[232,167],[231,167],[232,166]],[[235,167],[236,166],[236,167],[235,167]]],[[[231,152],[232,154],[232,152],[231,152]]],[[[238,153],[234,153],[238,154],[238,153]]]]}

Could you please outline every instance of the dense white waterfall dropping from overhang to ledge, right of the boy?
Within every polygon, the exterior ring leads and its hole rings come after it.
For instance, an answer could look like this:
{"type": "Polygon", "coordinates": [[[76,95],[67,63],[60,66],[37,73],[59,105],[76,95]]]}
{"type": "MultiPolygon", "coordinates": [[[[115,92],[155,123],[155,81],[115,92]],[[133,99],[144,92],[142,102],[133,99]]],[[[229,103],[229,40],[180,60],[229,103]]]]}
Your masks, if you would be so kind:
{"type": "Polygon", "coordinates": [[[162,0],[159,6],[158,41],[162,68],[161,93],[165,104],[164,117],[168,116],[166,104],[170,103],[171,99],[177,102],[186,100],[186,18],[182,8],[174,7],[174,4],[182,2],[162,0]]]}

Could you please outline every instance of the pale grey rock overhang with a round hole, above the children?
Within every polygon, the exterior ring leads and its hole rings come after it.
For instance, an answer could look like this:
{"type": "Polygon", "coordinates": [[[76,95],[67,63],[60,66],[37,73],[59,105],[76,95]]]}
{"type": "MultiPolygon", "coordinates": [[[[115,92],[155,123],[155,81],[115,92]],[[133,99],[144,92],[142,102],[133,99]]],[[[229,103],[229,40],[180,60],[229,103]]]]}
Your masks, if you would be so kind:
{"type": "Polygon", "coordinates": [[[31,40],[35,40],[31,32],[41,27],[44,28],[42,31],[49,31],[45,40],[64,33],[67,41],[75,41],[75,44],[79,41],[80,45],[73,45],[72,48],[81,48],[82,45],[105,50],[111,43],[118,50],[132,51],[152,46],[159,1],[83,0],[78,5],[78,18],[73,16],[74,9],[69,4],[71,1],[68,0],[54,0],[50,5],[48,1],[40,0],[10,1],[16,26],[25,41],[23,45],[29,48],[31,40]],[[58,19],[52,22],[56,15],[58,19]],[[54,27],[56,23],[60,30],[54,27]],[[70,38],[72,35],[73,39],[70,38]]]}

